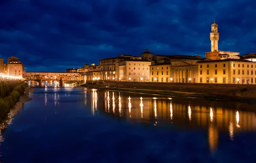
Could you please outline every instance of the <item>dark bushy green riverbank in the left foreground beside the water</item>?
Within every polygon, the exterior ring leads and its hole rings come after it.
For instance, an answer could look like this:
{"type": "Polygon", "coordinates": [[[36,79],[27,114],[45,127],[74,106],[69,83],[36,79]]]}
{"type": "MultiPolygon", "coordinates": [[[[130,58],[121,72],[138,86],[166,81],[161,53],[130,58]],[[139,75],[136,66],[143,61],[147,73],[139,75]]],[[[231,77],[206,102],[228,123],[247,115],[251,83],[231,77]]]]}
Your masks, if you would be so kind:
{"type": "Polygon", "coordinates": [[[0,122],[6,118],[7,114],[10,112],[10,109],[18,102],[21,95],[24,94],[25,88],[27,87],[26,84],[18,84],[18,82],[1,82],[0,84],[0,122]],[[16,85],[15,88],[13,86],[16,85]],[[11,92],[9,92],[12,90],[11,92]],[[2,93],[5,93],[3,96],[2,93]]]}

